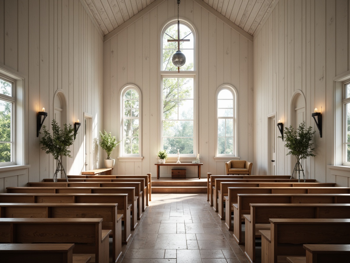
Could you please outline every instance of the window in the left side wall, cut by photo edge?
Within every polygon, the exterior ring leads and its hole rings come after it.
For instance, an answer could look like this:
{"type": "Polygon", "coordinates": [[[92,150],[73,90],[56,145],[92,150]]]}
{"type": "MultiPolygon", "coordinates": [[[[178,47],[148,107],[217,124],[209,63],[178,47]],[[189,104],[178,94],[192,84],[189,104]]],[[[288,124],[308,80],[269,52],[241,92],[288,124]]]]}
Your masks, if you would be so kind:
{"type": "Polygon", "coordinates": [[[15,163],[15,81],[0,75],[0,166],[15,163]]]}

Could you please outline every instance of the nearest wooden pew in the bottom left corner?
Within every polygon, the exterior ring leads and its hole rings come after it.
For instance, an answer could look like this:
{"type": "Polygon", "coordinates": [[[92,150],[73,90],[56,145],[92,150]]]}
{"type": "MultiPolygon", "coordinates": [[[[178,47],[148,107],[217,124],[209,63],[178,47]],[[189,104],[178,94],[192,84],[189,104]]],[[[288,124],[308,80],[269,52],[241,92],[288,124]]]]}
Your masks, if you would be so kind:
{"type": "Polygon", "coordinates": [[[89,263],[91,257],[73,257],[74,244],[0,244],[1,262],[89,263]]]}

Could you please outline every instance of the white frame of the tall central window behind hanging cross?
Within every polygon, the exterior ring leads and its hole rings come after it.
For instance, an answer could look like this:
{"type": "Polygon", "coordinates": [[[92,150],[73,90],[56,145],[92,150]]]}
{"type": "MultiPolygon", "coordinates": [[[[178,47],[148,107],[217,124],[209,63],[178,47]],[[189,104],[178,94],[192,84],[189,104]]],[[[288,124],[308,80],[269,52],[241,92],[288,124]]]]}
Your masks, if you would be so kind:
{"type": "MultiPolygon", "coordinates": [[[[194,78],[194,138],[193,138],[193,154],[181,154],[181,157],[196,157],[197,154],[199,154],[199,145],[198,145],[198,70],[197,70],[197,65],[198,65],[198,41],[197,41],[197,31],[195,29],[195,27],[192,25],[192,23],[188,20],[186,20],[185,18],[179,18],[180,24],[186,25],[193,34],[193,41],[194,41],[194,58],[193,58],[193,70],[181,70],[180,67],[180,73],[177,72],[177,70],[175,71],[169,71],[169,70],[162,70],[163,67],[163,35],[166,31],[166,29],[171,26],[174,25],[174,23],[177,23],[177,18],[174,18],[172,20],[167,21],[164,25],[163,25],[163,29],[161,31],[161,34],[159,36],[160,39],[160,56],[159,56],[159,82],[160,82],[160,96],[159,96],[159,144],[158,144],[158,149],[163,149],[163,78],[167,78],[167,77],[193,77],[194,78]]],[[[168,159],[173,159],[175,160],[177,158],[177,154],[168,154],[168,159]]]]}

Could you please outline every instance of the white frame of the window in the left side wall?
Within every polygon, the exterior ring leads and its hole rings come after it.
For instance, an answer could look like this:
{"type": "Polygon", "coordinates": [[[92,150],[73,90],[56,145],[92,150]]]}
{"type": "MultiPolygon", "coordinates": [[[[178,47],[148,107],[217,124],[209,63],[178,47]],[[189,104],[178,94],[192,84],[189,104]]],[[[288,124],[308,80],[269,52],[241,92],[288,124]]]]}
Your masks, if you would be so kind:
{"type": "Polygon", "coordinates": [[[2,162],[0,163],[0,166],[9,166],[9,165],[14,165],[16,163],[16,147],[15,147],[15,135],[14,131],[16,129],[16,123],[15,123],[15,118],[16,118],[16,80],[5,76],[3,74],[0,74],[0,79],[6,82],[9,82],[12,84],[12,90],[11,90],[11,96],[5,95],[0,93],[0,100],[6,101],[11,103],[11,135],[10,135],[10,143],[11,145],[11,161],[9,162],[2,162]]]}

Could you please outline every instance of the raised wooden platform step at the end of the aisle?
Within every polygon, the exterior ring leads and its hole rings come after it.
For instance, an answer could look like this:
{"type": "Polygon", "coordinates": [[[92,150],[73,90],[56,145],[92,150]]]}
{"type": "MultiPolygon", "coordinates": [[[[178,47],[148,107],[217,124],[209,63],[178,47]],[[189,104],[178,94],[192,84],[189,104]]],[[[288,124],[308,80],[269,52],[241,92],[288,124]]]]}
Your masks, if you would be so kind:
{"type": "Polygon", "coordinates": [[[207,193],[207,179],[171,177],[152,178],[152,193],[184,193],[198,194],[207,193]]]}

